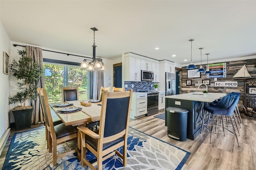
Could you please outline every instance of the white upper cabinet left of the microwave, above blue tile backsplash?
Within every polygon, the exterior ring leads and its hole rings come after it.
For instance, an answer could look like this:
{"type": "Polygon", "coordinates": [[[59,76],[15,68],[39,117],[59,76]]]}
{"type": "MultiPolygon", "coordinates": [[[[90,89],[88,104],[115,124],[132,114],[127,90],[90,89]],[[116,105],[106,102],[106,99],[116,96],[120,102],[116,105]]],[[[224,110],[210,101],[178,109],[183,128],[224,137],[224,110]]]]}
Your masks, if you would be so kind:
{"type": "Polygon", "coordinates": [[[140,60],[141,59],[132,56],[124,57],[124,81],[141,80],[140,60]]]}

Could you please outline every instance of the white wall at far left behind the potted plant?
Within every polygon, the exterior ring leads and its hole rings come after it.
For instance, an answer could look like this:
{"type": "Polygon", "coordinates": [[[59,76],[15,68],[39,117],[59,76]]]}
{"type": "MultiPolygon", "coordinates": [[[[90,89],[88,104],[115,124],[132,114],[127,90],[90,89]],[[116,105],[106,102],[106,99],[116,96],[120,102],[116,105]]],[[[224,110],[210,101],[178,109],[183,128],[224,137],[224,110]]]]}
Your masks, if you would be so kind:
{"type": "Polygon", "coordinates": [[[8,97],[10,96],[10,75],[4,74],[2,68],[3,51],[11,57],[10,44],[10,38],[0,21],[0,137],[2,137],[4,131],[9,127],[8,112],[10,106],[8,105],[8,97]]]}

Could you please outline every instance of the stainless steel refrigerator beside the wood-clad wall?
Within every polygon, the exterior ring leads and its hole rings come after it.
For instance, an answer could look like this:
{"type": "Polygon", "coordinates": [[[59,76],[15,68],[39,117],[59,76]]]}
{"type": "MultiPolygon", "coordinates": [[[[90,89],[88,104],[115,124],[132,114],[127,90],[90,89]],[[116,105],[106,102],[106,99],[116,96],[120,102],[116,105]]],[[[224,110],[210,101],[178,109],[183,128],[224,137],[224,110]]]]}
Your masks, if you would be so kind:
{"type": "Polygon", "coordinates": [[[176,94],[176,74],[166,72],[165,80],[165,96],[176,94]]]}

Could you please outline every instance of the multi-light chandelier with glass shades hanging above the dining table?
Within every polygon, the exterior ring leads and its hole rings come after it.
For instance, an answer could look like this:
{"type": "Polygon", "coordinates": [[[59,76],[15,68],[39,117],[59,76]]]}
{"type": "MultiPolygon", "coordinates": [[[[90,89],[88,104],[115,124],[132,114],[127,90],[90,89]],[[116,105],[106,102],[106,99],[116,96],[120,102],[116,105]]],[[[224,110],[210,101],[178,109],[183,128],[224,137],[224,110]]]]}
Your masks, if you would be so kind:
{"type": "Polygon", "coordinates": [[[101,70],[101,71],[105,71],[106,70],[106,66],[104,65],[104,63],[102,63],[101,59],[96,59],[96,45],[95,45],[95,31],[98,31],[97,28],[93,27],[93,28],[90,28],[93,30],[93,45],[92,45],[92,61],[87,62],[86,59],[84,59],[84,61],[82,62],[81,64],[81,67],[82,68],[86,68],[86,70],[88,71],[94,71],[94,69],[98,69],[98,70],[101,70]]]}

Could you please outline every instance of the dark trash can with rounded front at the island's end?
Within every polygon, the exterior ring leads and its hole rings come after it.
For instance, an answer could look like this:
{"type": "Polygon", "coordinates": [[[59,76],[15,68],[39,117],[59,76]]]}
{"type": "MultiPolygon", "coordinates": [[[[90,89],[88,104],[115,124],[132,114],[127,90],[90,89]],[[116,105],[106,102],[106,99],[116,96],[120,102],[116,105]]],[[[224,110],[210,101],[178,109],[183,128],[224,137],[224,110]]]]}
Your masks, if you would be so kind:
{"type": "Polygon", "coordinates": [[[188,110],[178,107],[167,107],[166,114],[168,137],[178,141],[186,141],[188,110]]]}

